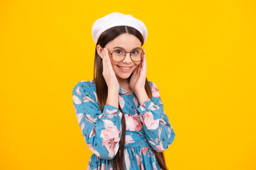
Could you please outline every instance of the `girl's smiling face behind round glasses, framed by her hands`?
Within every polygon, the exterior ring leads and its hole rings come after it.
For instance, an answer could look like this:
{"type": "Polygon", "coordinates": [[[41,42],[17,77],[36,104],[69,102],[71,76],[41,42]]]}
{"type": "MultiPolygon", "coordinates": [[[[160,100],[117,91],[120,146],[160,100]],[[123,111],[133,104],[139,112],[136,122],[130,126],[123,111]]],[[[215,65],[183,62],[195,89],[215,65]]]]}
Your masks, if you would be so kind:
{"type": "MultiPolygon", "coordinates": [[[[122,60],[122,62],[114,62],[109,53],[112,68],[117,76],[117,79],[127,79],[132,74],[132,72],[134,72],[134,69],[136,69],[136,67],[138,67],[138,65],[141,62],[141,61],[133,62],[130,57],[130,53],[129,53],[130,51],[134,50],[135,48],[142,47],[142,42],[140,42],[140,40],[134,35],[123,33],[117,36],[117,38],[114,38],[114,40],[108,42],[105,47],[111,53],[117,49],[123,49],[124,51],[127,51],[126,57],[124,58],[124,60],[122,60]],[[129,68],[129,69],[122,69],[121,67],[129,68]]],[[[99,50],[97,51],[100,57],[102,57],[103,50],[100,50],[100,47],[99,47],[99,50]]]]}

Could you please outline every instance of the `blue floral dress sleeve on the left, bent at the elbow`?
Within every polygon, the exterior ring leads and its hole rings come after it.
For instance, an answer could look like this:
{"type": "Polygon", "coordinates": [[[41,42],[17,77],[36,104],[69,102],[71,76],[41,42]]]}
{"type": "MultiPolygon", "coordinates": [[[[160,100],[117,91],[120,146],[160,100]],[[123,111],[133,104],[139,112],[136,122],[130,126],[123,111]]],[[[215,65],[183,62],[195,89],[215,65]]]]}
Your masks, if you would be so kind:
{"type": "Polygon", "coordinates": [[[89,149],[97,157],[113,159],[122,135],[122,113],[119,109],[105,105],[102,112],[95,91],[87,81],[79,81],[73,88],[73,106],[89,149]]]}

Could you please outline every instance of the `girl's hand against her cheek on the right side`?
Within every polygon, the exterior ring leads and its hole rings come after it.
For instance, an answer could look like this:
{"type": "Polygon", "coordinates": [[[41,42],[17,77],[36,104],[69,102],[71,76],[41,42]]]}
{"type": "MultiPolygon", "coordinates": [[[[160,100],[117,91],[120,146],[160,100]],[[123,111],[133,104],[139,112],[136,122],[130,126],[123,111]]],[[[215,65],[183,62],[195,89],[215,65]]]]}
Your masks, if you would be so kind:
{"type": "Polygon", "coordinates": [[[138,91],[145,90],[145,82],[146,82],[146,55],[145,49],[142,49],[142,61],[139,63],[134,72],[132,73],[132,77],[129,81],[129,87],[136,94],[138,91]]]}

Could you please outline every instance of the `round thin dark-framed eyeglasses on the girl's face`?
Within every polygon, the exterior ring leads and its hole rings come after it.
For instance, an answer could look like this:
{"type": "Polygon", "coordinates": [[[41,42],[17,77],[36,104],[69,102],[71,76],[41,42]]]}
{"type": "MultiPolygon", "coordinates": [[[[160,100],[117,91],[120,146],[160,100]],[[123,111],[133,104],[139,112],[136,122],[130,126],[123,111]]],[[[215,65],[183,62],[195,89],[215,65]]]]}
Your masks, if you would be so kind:
{"type": "MultiPolygon", "coordinates": [[[[143,52],[142,48],[129,52],[131,60],[133,62],[139,62],[140,60],[142,60],[142,56],[141,56],[142,52],[143,52]]],[[[126,51],[119,49],[119,50],[114,50],[112,53],[110,52],[110,55],[112,55],[112,60],[114,62],[122,62],[122,60],[124,60],[124,58],[126,57],[126,53],[127,53],[126,51]]]]}

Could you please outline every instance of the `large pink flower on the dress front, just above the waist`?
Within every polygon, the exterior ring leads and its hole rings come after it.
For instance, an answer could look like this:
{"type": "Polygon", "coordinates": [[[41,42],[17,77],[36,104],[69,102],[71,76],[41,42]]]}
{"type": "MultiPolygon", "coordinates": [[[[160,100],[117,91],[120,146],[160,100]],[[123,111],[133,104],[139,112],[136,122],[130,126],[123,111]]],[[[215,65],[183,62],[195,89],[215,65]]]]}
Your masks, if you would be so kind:
{"type": "Polygon", "coordinates": [[[131,115],[131,113],[129,113],[129,115],[125,115],[125,122],[126,122],[126,130],[130,130],[130,131],[141,131],[142,130],[142,122],[141,120],[139,120],[139,118],[137,118],[137,114],[135,115],[131,115]]]}

